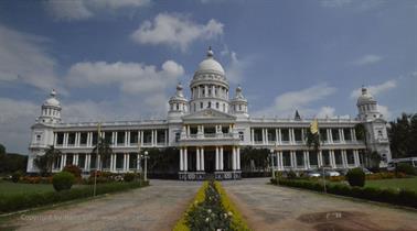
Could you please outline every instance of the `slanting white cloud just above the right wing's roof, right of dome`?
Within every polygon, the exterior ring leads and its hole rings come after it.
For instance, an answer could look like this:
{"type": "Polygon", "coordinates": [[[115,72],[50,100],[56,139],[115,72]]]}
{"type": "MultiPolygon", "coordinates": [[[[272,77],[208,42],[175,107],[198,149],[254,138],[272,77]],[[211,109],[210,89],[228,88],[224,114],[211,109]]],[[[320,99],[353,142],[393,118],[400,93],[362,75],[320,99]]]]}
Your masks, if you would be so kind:
{"type": "Polygon", "coordinates": [[[299,91],[285,92],[275,98],[272,106],[260,110],[256,114],[288,117],[292,116],[296,110],[299,110],[302,114],[317,113],[317,110],[311,109],[309,105],[334,94],[335,90],[334,87],[320,84],[299,91]]]}

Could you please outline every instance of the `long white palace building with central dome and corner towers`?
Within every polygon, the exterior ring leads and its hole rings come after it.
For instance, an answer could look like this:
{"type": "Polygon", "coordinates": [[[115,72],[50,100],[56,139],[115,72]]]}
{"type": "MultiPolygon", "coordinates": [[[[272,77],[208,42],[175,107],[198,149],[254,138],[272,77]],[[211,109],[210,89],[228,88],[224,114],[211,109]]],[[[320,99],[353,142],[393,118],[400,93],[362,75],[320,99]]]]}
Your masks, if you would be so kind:
{"type": "MultiPolygon", "coordinates": [[[[194,73],[190,89],[188,99],[183,87],[177,86],[165,119],[101,123],[101,136],[111,143],[115,154],[99,168],[114,173],[138,170],[139,148],[177,147],[180,163],[172,164],[179,165],[180,179],[203,179],[207,174],[217,179],[240,178],[240,151],[248,146],[271,150],[276,170],[308,170],[323,165],[351,168],[363,164],[365,150],[365,143],[356,140],[357,123],[364,123],[367,130],[368,148],[391,161],[386,121],[366,88],[357,99],[356,119],[318,120],[323,140],[319,153],[311,152],[304,139],[312,119],[298,113],[293,119],[254,118],[240,87],[229,97],[225,72],[211,50],[194,73]]],[[[97,143],[97,122],[65,123],[61,110],[53,90],[31,127],[29,173],[38,172],[33,160],[52,145],[63,153],[53,166],[55,172],[68,164],[84,172],[96,169],[100,156],[92,151],[97,143]]]]}

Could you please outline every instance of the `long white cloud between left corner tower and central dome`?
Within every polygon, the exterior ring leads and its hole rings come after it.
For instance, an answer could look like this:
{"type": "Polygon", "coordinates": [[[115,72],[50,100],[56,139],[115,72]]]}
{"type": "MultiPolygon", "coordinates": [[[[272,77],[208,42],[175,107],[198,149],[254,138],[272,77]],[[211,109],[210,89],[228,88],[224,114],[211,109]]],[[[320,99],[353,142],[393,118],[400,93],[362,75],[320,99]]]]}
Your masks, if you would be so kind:
{"type": "Polygon", "coordinates": [[[162,92],[183,74],[183,67],[173,61],[164,62],[160,70],[140,63],[84,62],[74,64],[66,78],[78,87],[118,85],[121,91],[138,95],[162,92]]]}

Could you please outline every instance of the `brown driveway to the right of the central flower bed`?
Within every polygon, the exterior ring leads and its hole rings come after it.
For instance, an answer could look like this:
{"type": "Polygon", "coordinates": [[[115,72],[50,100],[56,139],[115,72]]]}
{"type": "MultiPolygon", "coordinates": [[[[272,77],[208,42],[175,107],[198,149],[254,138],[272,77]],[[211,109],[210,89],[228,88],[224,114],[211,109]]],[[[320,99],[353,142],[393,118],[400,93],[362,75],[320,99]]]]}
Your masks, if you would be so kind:
{"type": "Polygon", "coordinates": [[[417,230],[417,212],[267,185],[222,183],[255,230],[417,230]]]}

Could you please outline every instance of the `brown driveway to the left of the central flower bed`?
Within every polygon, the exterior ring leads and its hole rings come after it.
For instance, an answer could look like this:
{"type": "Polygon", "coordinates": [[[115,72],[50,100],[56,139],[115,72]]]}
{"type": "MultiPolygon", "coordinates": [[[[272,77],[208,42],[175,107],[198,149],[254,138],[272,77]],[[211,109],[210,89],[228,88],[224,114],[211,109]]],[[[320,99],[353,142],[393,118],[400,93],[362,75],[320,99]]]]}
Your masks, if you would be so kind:
{"type": "Polygon", "coordinates": [[[200,186],[193,182],[151,180],[146,188],[23,215],[7,226],[30,231],[172,230],[200,186]]]}

